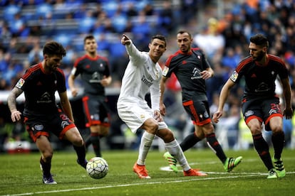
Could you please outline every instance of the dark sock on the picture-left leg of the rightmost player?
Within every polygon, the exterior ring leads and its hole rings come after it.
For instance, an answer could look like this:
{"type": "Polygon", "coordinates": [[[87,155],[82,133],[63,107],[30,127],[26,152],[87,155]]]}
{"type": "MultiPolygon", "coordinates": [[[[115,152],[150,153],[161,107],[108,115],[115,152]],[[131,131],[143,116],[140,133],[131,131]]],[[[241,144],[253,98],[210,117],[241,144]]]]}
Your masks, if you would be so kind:
{"type": "Polygon", "coordinates": [[[267,170],[271,170],[272,168],[274,168],[274,165],[272,165],[271,162],[271,156],[269,154],[269,145],[264,140],[262,134],[257,134],[253,136],[253,143],[258,155],[262,159],[262,162],[266,166],[267,170]]]}

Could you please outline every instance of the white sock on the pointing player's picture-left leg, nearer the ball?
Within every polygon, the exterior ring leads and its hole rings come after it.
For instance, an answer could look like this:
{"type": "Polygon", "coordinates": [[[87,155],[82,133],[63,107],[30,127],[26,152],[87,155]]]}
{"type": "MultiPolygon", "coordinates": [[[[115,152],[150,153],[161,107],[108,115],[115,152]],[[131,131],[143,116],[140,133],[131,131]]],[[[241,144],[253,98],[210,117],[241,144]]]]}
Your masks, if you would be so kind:
{"type": "Polygon", "coordinates": [[[138,153],[138,165],[145,165],[145,159],[148,156],[148,151],[150,151],[150,146],[152,146],[154,138],[155,135],[149,134],[147,131],[143,132],[138,153]]]}

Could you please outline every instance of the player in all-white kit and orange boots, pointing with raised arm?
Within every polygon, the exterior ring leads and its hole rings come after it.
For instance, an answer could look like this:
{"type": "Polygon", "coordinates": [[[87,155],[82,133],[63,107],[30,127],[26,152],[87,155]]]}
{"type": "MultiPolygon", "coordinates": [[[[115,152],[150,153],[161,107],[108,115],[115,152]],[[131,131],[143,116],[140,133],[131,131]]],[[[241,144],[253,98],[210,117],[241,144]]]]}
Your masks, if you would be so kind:
{"type": "Polygon", "coordinates": [[[129,63],[125,70],[120,96],[117,103],[118,114],[125,124],[135,133],[145,130],[140,141],[138,160],[133,171],[139,178],[150,178],[145,168],[145,160],[152,141],[157,135],[165,142],[170,152],[182,166],[185,176],[205,176],[190,168],[187,159],[167,124],[160,114],[160,80],[162,69],[157,62],[166,50],[166,39],[162,35],[153,36],[149,43],[149,52],[140,52],[132,40],[123,34],[121,43],[125,45],[129,55],[129,63]],[[151,106],[145,101],[145,94],[150,92],[151,106]]]}

